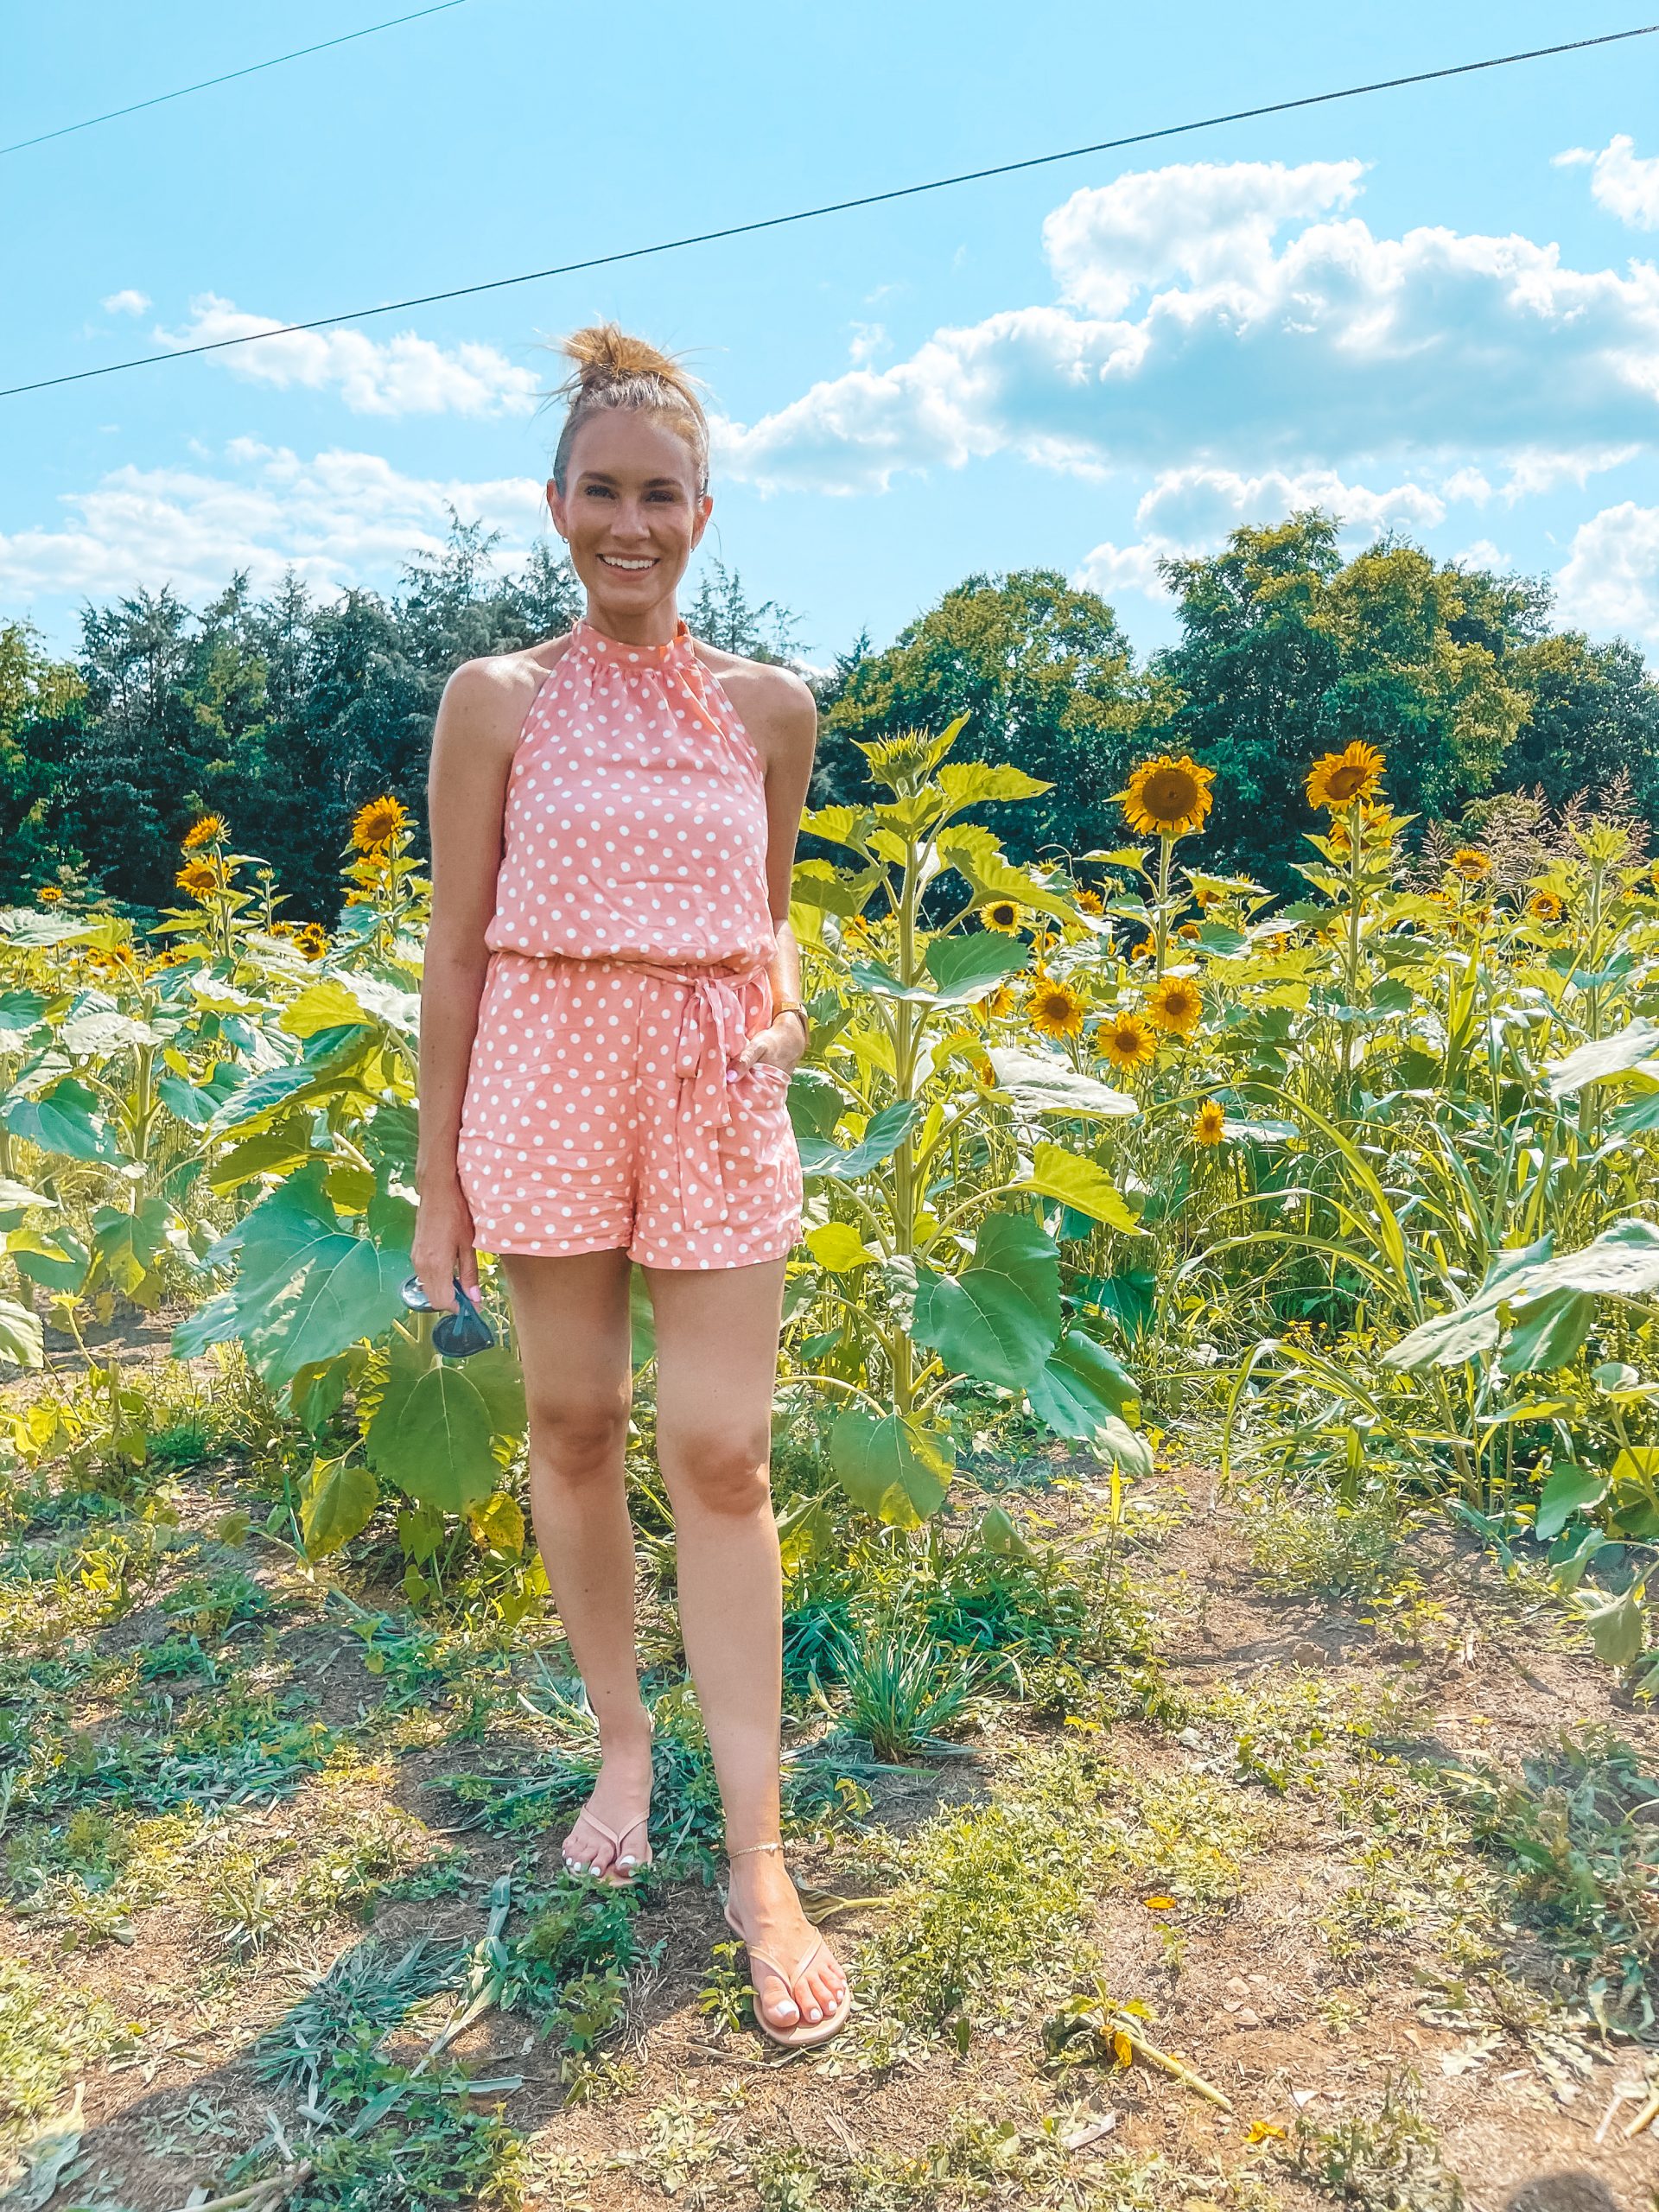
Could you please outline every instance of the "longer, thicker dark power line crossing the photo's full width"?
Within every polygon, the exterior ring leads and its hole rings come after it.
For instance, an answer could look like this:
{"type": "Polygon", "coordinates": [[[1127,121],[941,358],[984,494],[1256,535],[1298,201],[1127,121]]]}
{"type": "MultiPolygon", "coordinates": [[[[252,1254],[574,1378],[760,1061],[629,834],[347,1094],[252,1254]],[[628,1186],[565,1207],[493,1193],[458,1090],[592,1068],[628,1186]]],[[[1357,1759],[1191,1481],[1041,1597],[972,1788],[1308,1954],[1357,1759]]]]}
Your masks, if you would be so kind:
{"type": "MultiPolygon", "coordinates": [[[[453,4],[453,0],[451,0],[453,4]]],[[[752,223],[728,223],[721,230],[699,230],[684,239],[659,239],[655,246],[630,246],[615,254],[591,254],[586,261],[562,261],[557,268],[526,270],[522,276],[491,276],[487,283],[462,283],[449,292],[422,292],[416,299],[392,299],[378,307],[352,307],[345,314],[319,314],[310,323],[279,323],[272,330],[248,330],[237,338],[208,338],[201,345],[175,345],[166,354],[135,354],[133,361],[111,361],[102,369],[73,369],[66,376],[42,376],[31,385],[7,385],[0,400],[24,392],[51,392],[55,385],[82,385],[93,376],[122,376],[126,369],[148,369],[159,361],[184,361],[190,354],[223,354],[232,345],[257,345],[261,338],[294,338],[307,330],[334,330],[338,323],[367,323],[378,314],[403,314],[409,307],[436,307],[451,299],[476,299],[480,292],[507,292],[522,283],[544,283],[551,276],[580,276],[586,270],[615,268],[622,261],[646,261],[653,254],[675,254],[688,246],[717,246],[721,239],[748,239],[759,230],[783,230],[790,223],[812,223],[825,215],[849,215],[854,208],[880,208],[894,199],[916,199],[920,192],[945,192],[958,184],[982,184],[987,177],[1013,177],[1053,161],[1079,161],[1093,153],[1121,153],[1126,146],[1148,146],[1152,139],[1186,137],[1192,131],[1214,131],[1221,124],[1254,122],[1261,115],[1287,115],[1294,108],[1318,108],[1332,100],[1358,100],[1363,93],[1394,93],[1407,84],[1436,84],[1442,77],[1469,77],[1482,69],[1509,69],[1513,62],[1542,62],[1557,53],[1582,53],[1586,46],[1617,46],[1630,38],[1652,38],[1659,22],[1632,31],[1606,31],[1601,38],[1575,38],[1562,46],[1531,46],[1526,53],[1495,53],[1484,62],[1458,62],[1451,69],[1422,69],[1409,77],[1378,77],[1374,84],[1347,84],[1334,93],[1303,93],[1301,100],[1274,100],[1261,108],[1234,108],[1230,115],[1206,115],[1190,124],[1164,124],[1159,131],[1135,131],[1130,137],[1099,139],[1093,146],[1066,146],[1062,153],[1037,153],[1024,161],[998,161],[995,168],[967,168],[953,177],[931,177],[927,184],[900,184],[887,192],[865,192],[858,199],[832,199],[792,215],[765,215],[752,223]]]]}

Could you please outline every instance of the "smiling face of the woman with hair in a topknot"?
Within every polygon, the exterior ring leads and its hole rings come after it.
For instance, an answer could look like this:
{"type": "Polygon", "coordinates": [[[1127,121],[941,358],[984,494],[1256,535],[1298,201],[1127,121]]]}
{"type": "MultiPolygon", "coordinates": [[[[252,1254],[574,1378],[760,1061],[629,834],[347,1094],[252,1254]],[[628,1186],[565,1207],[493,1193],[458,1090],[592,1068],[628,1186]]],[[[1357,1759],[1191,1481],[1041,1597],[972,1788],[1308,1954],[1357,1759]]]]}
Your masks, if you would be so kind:
{"type": "Polygon", "coordinates": [[[686,440],[637,407],[595,409],[571,440],[564,491],[546,487],[595,628],[630,644],[675,635],[675,591],[712,509],[686,440]]]}

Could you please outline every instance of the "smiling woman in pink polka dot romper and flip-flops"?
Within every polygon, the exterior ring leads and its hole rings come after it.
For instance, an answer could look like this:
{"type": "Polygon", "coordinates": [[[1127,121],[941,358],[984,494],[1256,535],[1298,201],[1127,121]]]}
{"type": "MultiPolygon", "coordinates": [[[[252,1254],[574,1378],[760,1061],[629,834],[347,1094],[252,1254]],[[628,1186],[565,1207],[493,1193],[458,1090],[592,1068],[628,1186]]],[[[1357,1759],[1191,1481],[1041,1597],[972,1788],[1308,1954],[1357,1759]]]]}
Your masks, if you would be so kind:
{"type": "Polygon", "coordinates": [[[546,500],[586,617],[458,668],[434,734],[414,1261],[440,1307],[456,1276],[476,1292],[473,1245],[507,1274],[535,1535],[599,1723],[564,1860],[604,1880],[650,1863],[624,1489],[641,1265],[726,1918],[765,2033],[823,2042],[852,2000],[779,1840],[770,1500],[783,1263],[801,1241],[785,1095],[807,1044],[787,911],[816,708],[799,677],[697,644],[677,615],[712,507],[688,378],[615,325],[564,352],[546,500]]]}

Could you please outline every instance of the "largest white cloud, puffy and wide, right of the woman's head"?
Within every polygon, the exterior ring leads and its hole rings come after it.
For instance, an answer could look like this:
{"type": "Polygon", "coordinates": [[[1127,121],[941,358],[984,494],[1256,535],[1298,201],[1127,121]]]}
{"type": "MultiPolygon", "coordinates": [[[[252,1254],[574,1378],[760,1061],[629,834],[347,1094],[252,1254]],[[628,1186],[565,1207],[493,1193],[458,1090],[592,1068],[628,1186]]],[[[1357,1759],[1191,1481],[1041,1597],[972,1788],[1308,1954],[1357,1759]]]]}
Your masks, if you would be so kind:
{"type": "Polygon", "coordinates": [[[847,493],[991,453],[1077,476],[1301,473],[1659,438],[1655,265],[1575,270],[1517,234],[1376,237],[1356,215],[1279,237],[1356,190],[1358,164],[1192,164],[1075,192],[1046,226],[1060,301],[726,422],[721,460],[761,489],[847,493]]]}

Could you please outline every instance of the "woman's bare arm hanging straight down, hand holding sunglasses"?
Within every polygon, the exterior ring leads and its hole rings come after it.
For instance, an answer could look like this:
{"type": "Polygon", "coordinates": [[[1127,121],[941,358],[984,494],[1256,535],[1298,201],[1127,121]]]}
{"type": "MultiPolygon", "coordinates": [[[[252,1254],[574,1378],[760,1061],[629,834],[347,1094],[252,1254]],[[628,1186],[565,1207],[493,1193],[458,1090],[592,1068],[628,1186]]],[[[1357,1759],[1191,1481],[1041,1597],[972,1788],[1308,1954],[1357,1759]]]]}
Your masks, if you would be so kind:
{"type": "Polygon", "coordinates": [[[524,712],[520,692],[522,677],[515,679],[509,666],[467,661],[445,688],[431,737],[431,929],[420,978],[414,1263],[427,1298],[440,1307],[456,1303],[451,1276],[478,1290],[473,1217],[456,1148],[489,969],[484,931],[495,911],[507,776],[524,712]]]}

